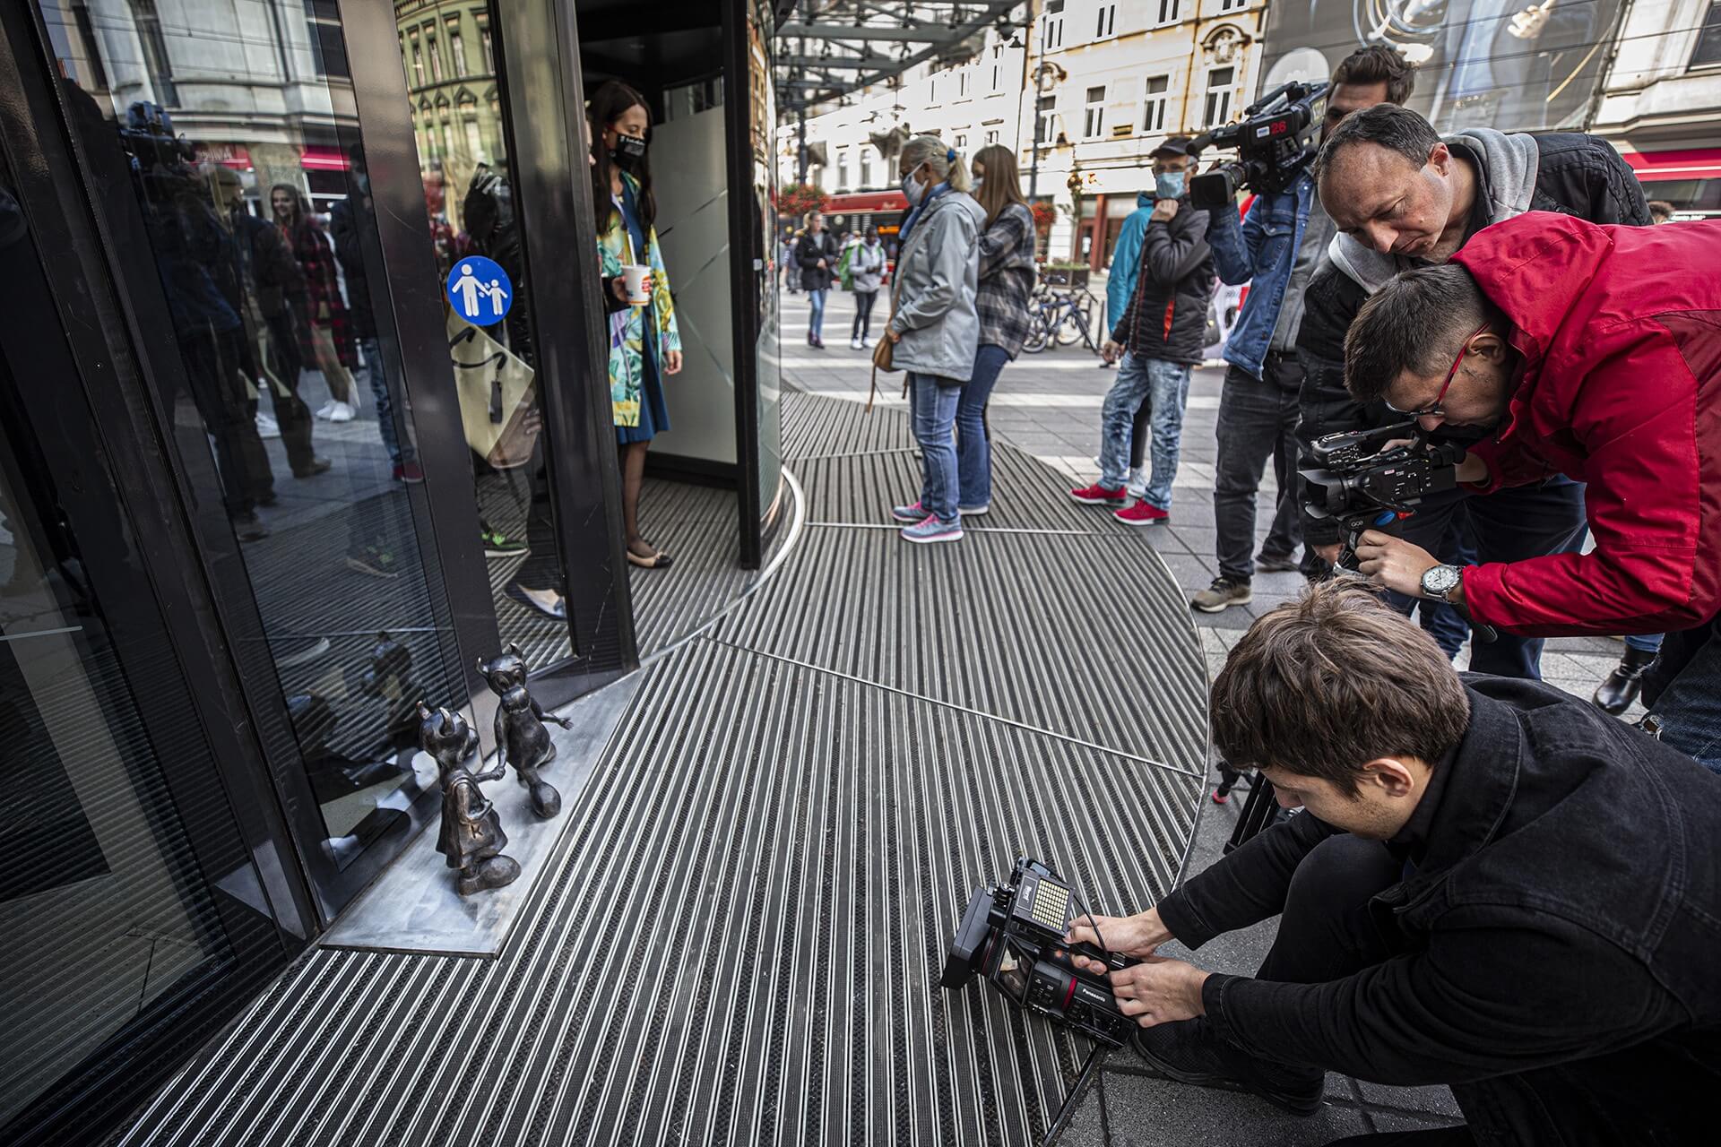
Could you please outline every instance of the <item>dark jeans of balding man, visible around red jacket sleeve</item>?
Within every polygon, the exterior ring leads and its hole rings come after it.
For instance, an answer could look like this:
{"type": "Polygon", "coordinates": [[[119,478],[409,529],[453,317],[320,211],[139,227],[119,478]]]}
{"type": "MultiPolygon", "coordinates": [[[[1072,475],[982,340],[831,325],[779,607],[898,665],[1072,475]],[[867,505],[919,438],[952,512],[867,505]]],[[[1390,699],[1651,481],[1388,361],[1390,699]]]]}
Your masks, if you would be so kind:
{"type": "MultiPolygon", "coordinates": [[[[1583,549],[1588,523],[1583,518],[1583,485],[1571,478],[1549,478],[1532,487],[1509,487],[1494,494],[1449,490],[1423,500],[1404,521],[1404,538],[1442,562],[1459,564],[1463,555],[1442,549],[1447,524],[1458,506],[1470,514],[1475,561],[1521,562],[1544,554],[1576,554],[1583,549]]],[[[1416,598],[1387,595],[1401,614],[1416,598]]],[[[1494,641],[1470,645],[1470,669],[1497,678],[1542,679],[1542,638],[1501,633],[1494,641]]]]}

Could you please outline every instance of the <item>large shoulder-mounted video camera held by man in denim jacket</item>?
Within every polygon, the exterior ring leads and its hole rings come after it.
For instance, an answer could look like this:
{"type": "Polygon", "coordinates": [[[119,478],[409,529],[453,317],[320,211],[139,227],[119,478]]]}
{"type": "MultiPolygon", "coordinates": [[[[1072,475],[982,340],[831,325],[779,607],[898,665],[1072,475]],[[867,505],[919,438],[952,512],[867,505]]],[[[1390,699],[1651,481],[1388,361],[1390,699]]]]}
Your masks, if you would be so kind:
{"type": "Polygon", "coordinates": [[[1243,110],[1241,124],[1225,124],[1189,141],[1191,151],[1236,148],[1237,158],[1189,181],[1189,205],[1215,208],[1236,203],[1237,191],[1284,191],[1320,151],[1320,120],[1327,84],[1292,79],[1243,110]]]}

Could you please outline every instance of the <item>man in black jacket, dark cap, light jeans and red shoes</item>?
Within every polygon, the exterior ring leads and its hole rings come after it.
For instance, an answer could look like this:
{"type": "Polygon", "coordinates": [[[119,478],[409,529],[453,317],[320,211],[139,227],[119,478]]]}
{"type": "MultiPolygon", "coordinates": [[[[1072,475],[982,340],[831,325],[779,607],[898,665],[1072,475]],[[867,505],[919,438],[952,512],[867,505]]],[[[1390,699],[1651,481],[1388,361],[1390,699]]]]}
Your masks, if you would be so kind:
{"type": "Polygon", "coordinates": [[[1208,213],[1189,206],[1187,172],[1196,151],[1187,136],[1172,136],[1153,151],[1155,203],[1141,236],[1141,270],[1129,306],[1100,349],[1119,363],[1117,382],[1100,413],[1100,480],[1070,490],[1088,506],[1122,506],[1129,471],[1129,439],[1136,411],[1151,411],[1153,476],[1129,509],[1113,511],[1127,526],[1151,526],[1170,518],[1172,480],[1182,445],[1189,370],[1206,346],[1206,304],[1213,299],[1213,251],[1206,246],[1208,213]]]}

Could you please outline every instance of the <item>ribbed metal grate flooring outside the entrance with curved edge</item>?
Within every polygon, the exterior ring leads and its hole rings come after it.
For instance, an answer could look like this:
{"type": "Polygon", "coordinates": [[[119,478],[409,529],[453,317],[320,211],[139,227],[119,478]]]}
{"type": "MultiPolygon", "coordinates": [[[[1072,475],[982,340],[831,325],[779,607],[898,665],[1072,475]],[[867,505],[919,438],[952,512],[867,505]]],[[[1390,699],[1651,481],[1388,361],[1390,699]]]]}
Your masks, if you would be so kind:
{"type": "MultiPolygon", "coordinates": [[[[785,423],[840,447],[823,414],[902,421],[857,409],[790,394],[785,423]]],[[[811,499],[897,494],[792,466],[811,499]]],[[[1057,490],[998,471],[1024,521],[1057,490]]],[[[1096,910],[1170,887],[1201,666],[1138,537],[809,526],[645,671],[499,958],[313,949],[120,1142],[1036,1142],[1089,1047],[940,991],[943,946],[1022,851],[1096,910]]]]}

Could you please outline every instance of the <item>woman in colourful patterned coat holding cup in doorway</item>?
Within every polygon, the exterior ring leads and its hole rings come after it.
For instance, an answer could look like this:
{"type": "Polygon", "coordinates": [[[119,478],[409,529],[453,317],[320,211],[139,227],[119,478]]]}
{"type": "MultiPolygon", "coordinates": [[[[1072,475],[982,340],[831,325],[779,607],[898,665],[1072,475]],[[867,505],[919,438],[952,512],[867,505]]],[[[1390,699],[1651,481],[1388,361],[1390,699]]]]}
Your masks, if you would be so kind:
{"type": "Polygon", "coordinates": [[[618,275],[626,263],[651,267],[651,303],[609,316],[609,404],[616,442],[621,445],[621,516],[628,562],[642,569],[663,569],[669,566],[669,555],[652,549],[640,535],[638,504],[645,481],[645,451],[652,437],[669,428],[663,375],[682,370],[682,334],[675,323],[669,275],[652,225],[657,201],[645,153],[651,112],[640,93],[613,79],[592,93],[590,117],[599,129],[592,201],[601,213],[597,253],[602,273],[606,279],[618,275]]]}

